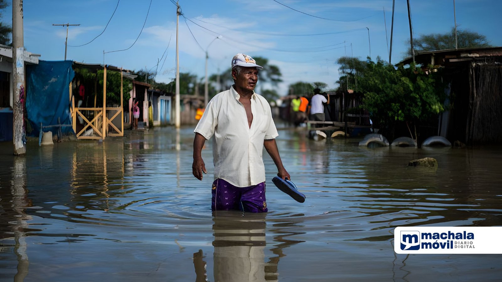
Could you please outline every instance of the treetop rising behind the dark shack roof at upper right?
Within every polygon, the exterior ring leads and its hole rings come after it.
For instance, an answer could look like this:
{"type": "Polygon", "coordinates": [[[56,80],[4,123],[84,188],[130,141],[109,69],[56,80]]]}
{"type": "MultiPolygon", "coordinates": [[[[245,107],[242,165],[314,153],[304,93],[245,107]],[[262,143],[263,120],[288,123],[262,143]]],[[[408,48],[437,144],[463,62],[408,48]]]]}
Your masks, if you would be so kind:
{"type": "MultiPolygon", "coordinates": [[[[410,40],[407,42],[410,46],[410,40]]],[[[470,30],[457,29],[458,48],[491,47],[486,36],[470,30]]],[[[413,48],[416,52],[455,49],[455,28],[447,33],[421,34],[413,40],[413,48]]],[[[408,48],[411,56],[411,48],[408,48]]]]}

